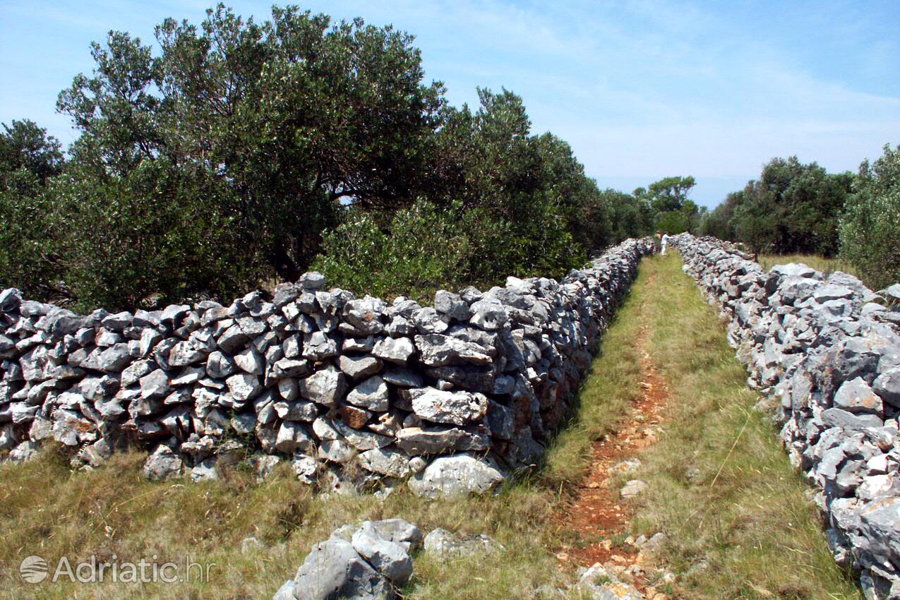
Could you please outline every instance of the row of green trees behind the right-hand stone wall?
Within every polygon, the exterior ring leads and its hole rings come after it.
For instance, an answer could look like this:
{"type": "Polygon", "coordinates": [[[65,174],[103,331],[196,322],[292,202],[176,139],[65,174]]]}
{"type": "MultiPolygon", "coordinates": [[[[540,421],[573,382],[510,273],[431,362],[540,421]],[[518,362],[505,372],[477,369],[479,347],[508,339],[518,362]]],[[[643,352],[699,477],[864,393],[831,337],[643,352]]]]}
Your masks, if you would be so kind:
{"type": "Polygon", "coordinates": [[[698,232],[753,252],[841,255],[875,287],[900,280],[900,147],[858,175],[774,158],[760,179],[703,215],[698,232]]]}

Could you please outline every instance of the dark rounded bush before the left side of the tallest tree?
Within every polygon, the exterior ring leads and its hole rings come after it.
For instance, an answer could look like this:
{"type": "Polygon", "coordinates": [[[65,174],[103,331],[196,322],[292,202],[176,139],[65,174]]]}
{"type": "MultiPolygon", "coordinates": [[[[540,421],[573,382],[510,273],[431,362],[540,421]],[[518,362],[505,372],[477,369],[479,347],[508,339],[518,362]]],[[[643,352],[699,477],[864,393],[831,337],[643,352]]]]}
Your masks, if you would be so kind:
{"type": "Polygon", "coordinates": [[[245,291],[260,265],[242,256],[249,240],[231,227],[229,190],[166,159],[146,162],[103,186],[64,178],[54,185],[60,220],[90,223],[60,239],[77,308],[136,308],[245,291]]]}

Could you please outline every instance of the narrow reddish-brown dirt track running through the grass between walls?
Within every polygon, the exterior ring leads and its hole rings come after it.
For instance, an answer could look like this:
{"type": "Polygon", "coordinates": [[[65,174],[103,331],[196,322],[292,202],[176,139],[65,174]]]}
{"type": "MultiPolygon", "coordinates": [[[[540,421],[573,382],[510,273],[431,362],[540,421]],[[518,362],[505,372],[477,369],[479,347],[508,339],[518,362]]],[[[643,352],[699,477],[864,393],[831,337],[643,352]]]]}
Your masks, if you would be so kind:
{"type": "MultiPolygon", "coordinates": [[[[655,277],[651,277],[648,287],[654,282],[655,277]]],[[[628,569],[635,565],[641,567],[644,561],[640,549],[626,538],[632,514],[613,482],[613,479],[620,479],[618,475],[635,470],[634,460],[640,461],[642,450],[657,440],[670,399],[666,382],[648,352],[653,319],[645,315],[644,309],[642,304],[642,326],[634,340],[641,355],[642,394],[632,403],[615,431],[591,444],[590,472],[560,515],[560,527],[576,533],[579,540],[557,554],[563,563],[583,567],[595,563],[613,564],[628,569]]],[[[640,569],[637,571],[635,586],[644,591],[640,569]]]]}

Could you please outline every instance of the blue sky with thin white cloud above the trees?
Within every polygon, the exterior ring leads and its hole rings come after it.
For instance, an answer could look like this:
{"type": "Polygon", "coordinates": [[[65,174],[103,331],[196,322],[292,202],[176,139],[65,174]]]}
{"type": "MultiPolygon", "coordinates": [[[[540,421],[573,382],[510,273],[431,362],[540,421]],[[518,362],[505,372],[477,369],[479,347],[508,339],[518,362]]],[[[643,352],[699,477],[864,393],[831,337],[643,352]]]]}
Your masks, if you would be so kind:
{"type": "MultiPolygon", "coordinates": [[[[75,132],[56,97],[93,67],[111,29],[145,42],[166,16],[202,20],[194,0],[0,0],[0,121],[75,132]]],[[[226,3],[265,18],[270,2],[226,3]]],[[[694,175],[713,206],[796,154],[856,170],[900,143],[900,2],[469,2],[311,0],[417,36],[428,79],[452,103],[477,85],[522,95],[536,133],[572,144],[603,187],[631,191],[694,175]]]]}

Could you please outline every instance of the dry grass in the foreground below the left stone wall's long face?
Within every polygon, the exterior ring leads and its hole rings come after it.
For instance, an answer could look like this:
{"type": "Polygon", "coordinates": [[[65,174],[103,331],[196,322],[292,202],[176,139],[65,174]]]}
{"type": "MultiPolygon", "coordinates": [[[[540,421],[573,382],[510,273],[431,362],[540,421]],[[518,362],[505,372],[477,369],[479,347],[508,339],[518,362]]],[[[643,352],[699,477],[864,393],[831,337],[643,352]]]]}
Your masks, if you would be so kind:
{"type": "Polygon", "coordinates": [[[435,527],[488,533],[508,552],[447,563],[416,560],[410,598],[539,597],[536,587],[563,586],[547,520],[556,496],[548,488],[511,485],[496,496],[428,501],[398,491],[317,497],[287,472],[264,483],[240,471],[220,481],[154,483],[139,475],[138,452],[115,457],[92,473],[70,473],[52,451],[23,466],[0,469],[0,590],[10,598],[268,598],[293,577],[312,543],[338,526],[401,516],[425,531],[435,527]],[[247,554],[241,542],[261,543],[247,554]],[[119,563],[149,560],[215,563],[209,581],[147,586],[105,582],[23,583],[18,565],[39,555],[52,566],[60,556],[75,564],[94,555],[119,563]],[[477,564],[476,564],[477,563],[477,564]],[[476,573],[477,571],[477,573],[476,573]],[[525,575],[523,575],[525,574],[525,575]],[[462,592],[461,592],[462,590],[462,592]]]}

